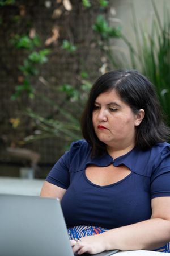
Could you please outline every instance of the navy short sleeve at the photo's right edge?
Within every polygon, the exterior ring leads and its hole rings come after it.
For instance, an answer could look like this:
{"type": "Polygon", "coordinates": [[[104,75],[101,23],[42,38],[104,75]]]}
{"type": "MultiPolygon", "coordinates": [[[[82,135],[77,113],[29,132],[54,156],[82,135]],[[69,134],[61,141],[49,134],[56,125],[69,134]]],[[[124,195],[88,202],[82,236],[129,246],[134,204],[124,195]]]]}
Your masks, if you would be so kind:
{"type": "Polygon", "coordinates": [[[151,176],[151,198],[170,196],[170,146],[166,146],[158,158],[151,176]]]}

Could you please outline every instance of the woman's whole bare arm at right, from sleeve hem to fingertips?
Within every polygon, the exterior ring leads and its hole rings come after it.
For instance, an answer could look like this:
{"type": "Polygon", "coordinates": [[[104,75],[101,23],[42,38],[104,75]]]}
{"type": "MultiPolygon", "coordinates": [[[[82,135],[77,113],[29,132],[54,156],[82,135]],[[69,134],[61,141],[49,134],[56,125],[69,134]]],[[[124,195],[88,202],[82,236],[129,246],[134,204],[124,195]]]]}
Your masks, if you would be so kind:
{"type": "Polygon", "coordinates": [[[152,199],[150,220],[111,229],[103,234],[83,237],[72,242],[78,254],[99,253],[104,250],[154,250],[170,241],[170,197],[152,199]]]}

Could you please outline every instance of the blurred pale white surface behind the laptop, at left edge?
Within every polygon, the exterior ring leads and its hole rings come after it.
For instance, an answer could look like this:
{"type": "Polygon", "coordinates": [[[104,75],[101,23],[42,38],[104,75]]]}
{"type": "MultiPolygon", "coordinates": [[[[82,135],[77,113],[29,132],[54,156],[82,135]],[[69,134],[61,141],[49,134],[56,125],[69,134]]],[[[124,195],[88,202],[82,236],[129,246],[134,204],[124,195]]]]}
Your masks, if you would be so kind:
{"type": "Polygon", "coordinates": [[[0,193],[39,196],[44,180],[0,177],[0,193]]]}

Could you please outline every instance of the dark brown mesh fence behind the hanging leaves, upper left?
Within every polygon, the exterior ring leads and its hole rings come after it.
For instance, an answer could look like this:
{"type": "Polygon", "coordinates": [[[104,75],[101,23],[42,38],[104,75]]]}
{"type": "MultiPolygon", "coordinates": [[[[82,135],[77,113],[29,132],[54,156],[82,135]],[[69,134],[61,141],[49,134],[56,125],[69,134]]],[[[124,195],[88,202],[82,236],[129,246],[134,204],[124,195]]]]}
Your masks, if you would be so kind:
{"type": "MultiPolygon", "coordinates": [[[[35,124],[28,115],[23,113],[25,107],[35,110],[44,117],[52,115],[53,118],[63,118],[62,114],[54,111],[53,107],[42,101],[41,94],[50,97],[58,104],[62,102],[62,94],[52,93],[52,90],[45,83],[52,86],[59,86],[64,83],[74,84],[78,88],[78,76],[81,71],[87,71],[92,82],[99,76],[101,65],[101,52],[96,47],[96,34],[91,26],[96,16],[104,10],[99,8],[99,1],[92,1],[91,8],[84,8],[82,1],[70,1],[72,10],[67,11],[63,1],[15,1],[13,5],[3,6],[0,10],[0,51],[1,51],[1,93],[0,93],[0,161],[1,163],[18,162],[7,154],[7,147],[28,148],[40,154],[40,164],[53,164],[65,151],[63,138],[41,139],[32,143],[18,143],[27,135],[33,133],[35,124]],[[11,44],[11,38],[15,34],[29,34],[34,28],[40,36],[40,48],[47,47],[51,50],[48,62],[40,67],[40,73],[31,80],[36,90],[36,97],[31,100],[26,94],[16,101],[11,100],[15,92],[15,86],[22,80],[19,65],[23,64],[28,51],[16,49],[11,44]],[[45,46],[47,39],[52,39],[55,28],[59,31],[59,37],[48,46],[45,46]],[[77,51],[74,55],[66,53],[61,48],[64,39],[71,40],[77,51]],[[17,125],[17,121],[19,124],[17,125]],[[16,123],[17,127],[14,127],[16,123]]],[[[47,45],[47,44],[46,44],[47,45]]],[[[79,110],[78,110],[79,111],[79,110]]]]}

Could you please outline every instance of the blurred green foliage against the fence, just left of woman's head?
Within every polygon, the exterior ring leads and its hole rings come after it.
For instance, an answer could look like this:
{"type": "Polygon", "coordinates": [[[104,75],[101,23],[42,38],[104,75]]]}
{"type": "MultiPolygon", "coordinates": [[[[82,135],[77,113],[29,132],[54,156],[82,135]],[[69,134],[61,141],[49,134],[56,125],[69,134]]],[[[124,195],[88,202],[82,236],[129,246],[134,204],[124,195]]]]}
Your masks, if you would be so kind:
{"type": "Polygon", "coordinates": [[[34,134],[24,138],[24,142],[32,142],[37,139],[49,138],[49,137],[63,137],[66,142],[81,138],[79,118],[83,110],[83,105],[87,100],[87,94],[92,86],[91,82],[87,80],[87,72],[82,72],[80,75],[80,88],[76,89],[73,85],[63,84],[56,87],[51,86],[50,90],[54,93],[62,92],[63,101],[60,105],[53,101],[49,97],[44,96],[40,92],[36,94],[36,97],[41,98],[41,101],[52,106],[53,111],[60,113],[63,116],[63,120],[58,120],[52,117],[42,117],[40,114],[33,112],[31,109],[26,110],[26,114],[31,117],[36,123],[36,131],[34,134]],[[67,109],[65,102],[72,104],[71,110],[67,109]]]}

